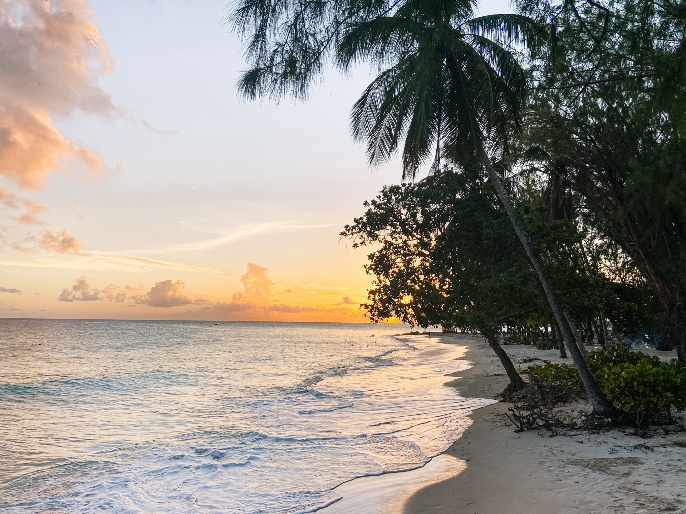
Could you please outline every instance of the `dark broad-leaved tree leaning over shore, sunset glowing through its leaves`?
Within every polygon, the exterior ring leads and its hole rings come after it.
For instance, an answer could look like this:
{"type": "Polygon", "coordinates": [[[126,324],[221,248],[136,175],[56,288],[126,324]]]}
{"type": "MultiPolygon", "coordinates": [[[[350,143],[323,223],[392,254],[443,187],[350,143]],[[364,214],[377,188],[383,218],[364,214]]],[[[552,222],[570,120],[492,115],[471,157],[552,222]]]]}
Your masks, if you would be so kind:
{"type": "MultiPolygon", "coordinates": [[[[444,167],[426,180],[387,186],[365,205],[341,236],[353,247],[373,248],[365,265],[372,289],[363,305],[370,319],[478,332],[506,369],[509,389],[521,389],[500,341],[517,343],[516,334],[530,334],[556,345],[540,331],[553,315],[492,184],[478,169],[444,167]]],[[[553,247],[576,237],[565,228],[553,243],[554,230],[547,228],[553,247]]]]}

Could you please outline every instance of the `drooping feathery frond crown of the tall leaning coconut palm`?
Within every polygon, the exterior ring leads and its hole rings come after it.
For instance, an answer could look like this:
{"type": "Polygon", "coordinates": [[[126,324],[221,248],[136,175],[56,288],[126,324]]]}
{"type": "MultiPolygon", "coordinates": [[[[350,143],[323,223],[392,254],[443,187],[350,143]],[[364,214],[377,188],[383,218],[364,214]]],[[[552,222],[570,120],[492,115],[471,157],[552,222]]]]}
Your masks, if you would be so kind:
{"type": "Polygon", "coordinates": [[[431,156],[437,172],[441,157],[471,166],[484,145],[506,151],[508,132],[519,129],[526,80],[498,41],[525,41],[533,23],[517,14],[473,17],[473,5],[413,0],[345,27],[342,68],[365,60],[383,69],[351,115],[372,164],[402,146],[403,178],[411,179],[431,156]]]}

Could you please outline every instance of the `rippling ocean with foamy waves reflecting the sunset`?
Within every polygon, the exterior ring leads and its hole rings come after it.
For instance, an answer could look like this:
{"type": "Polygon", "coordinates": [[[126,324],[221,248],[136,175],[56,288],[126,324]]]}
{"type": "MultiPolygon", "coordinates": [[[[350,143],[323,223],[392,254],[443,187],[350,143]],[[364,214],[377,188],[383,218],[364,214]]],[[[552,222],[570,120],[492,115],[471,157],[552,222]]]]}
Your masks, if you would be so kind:
{"type": "Polygon", "coordinates": [[[296,514],[487,402],[401,325],[0,319],[0,511],[296,514]]]}

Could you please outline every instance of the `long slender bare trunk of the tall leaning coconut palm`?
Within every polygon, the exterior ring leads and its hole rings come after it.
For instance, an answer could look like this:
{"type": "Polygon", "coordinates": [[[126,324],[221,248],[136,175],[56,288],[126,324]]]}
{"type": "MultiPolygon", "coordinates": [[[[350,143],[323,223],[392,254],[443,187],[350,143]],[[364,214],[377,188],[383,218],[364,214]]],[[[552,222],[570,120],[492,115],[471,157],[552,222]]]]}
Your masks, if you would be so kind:
{"type": "Polygon", "coordinates": [[[579,376],[581,377],[581,381],[584,384],[584,389],[589,396],[589,401],[591,402],[591,405],[593,405],[593,411],[600,416],[614,417],[615,412],[612,404],[603,394],[598,381],[593,378],[593,375],[591,375],[591,370],[589,370],[589,367],[586,365],[586,361],[576,346],[574,334],[569,327],[569,323],[567,323],[564,311],[560,306],[560,302],[558,301],[555,290],[553,289],[552,281],[548,276],[548,271],[545,267],[545,264],[543,264],[543,259],[541,258],[541,255],[536,247],[534,247],[534,243],[532,243],[528,232],[526,232],[524,228],[524,223],[521,221],[519,212],[517,212],[517,210],[514,208],[512,199],[510,199],[510,195],[508,195],[508,192],[505,190],[505,186],[503,185],[503,181],[500,179],[500,175],[498,175],[497,171],[495,171],[493,168],[493,163],[490,162],[490,158],[483,148],[480,148],[480,158],[484,168],[486,168],[488,178],[490,178],[490,181],[493,182],[495,191],[497,192],[500,201],[503,203],[503,206],[510,217],[510,221],[512,221],[514,231],[517,232],[519,241],[521,241],[526,254],[529,256],[531,263],[536,270],[536,274],[539,276],[539,280],[541,280],[543,291],[545,291],[545,295],[548,298],[548,303],[550,304],[550,308],[555,316],[555,321],[557,321],[558,328],[560,328],[562,337],[565,340],[565,345],[567,345],[567,350],[569,350],[571,359],[573,360],[574,365],[576,365],[576,369],[579,371],[579,376]]]}

